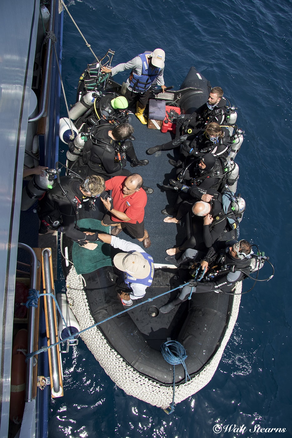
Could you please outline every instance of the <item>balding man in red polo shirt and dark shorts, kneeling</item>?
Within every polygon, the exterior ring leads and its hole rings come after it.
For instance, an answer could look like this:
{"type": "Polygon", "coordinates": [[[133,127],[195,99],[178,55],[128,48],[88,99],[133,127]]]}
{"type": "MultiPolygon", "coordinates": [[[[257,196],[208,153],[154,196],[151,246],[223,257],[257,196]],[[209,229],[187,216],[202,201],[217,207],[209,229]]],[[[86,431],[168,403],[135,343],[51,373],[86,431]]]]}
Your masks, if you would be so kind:
{"type": "Polygon", "coordinates": [[[112,206],[110,200],[101,198],[108,210],[102,220],[102,225],[114,226],[112,236],[118,236],[125,228],[132,237],[143,242],[149,248],[151,241],[148,231],[144,229],[144,208],[147,203],[146,192],[142,189],[141,175],[133,173],[129,177],[113,177],[105,182],[106,190],[112,191],[112,206]]]}

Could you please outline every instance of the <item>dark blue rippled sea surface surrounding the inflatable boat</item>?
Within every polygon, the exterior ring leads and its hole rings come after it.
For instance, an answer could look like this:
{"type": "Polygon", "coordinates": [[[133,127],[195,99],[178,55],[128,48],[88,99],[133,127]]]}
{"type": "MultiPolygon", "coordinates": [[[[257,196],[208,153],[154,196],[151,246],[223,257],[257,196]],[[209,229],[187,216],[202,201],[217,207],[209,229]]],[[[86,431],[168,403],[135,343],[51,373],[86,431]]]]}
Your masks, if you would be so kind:
{"type": "MultiPolygon", "coordinates": [[[[50,437],[279,435],[249,432],[255,424],[285,427],[281,435],[292,436],[291,2],[87,0],[68,6],[97,55],[115,50],[113,65],[161,47],[166,85],[179,88],[194,65],[238,107],[246,133],[236,159],[247,204],[241,238],[270,256],[275,276],[242,296],[214,378],[169,416],[127,396],[80,341],[64,360],[65,395],[51,403],[50,437]],[[217,423],[246,430],[215,434],[217,423]]],[[[92,59],[66,14],[62,77],[68,102],[75,102],[79,75],[92,59]]],[[[115,78],[121,82],[126,75],[115,78]]],[[[269,276],[266,266],[263,271],[260,278],[269,276]]]]}

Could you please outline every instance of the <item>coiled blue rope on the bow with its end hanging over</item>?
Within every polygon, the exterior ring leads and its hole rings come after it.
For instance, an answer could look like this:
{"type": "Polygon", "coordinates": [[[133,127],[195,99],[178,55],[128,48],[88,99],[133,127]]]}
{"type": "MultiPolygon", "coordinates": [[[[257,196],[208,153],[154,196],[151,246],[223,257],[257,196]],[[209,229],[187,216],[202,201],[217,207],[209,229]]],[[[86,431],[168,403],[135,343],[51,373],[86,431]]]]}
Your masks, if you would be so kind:
{"type": "Polygon", "coordinates": [[[169,413],[172,413],[174,411],[174,394],[175,394],[175,365],[182,365],[185,370],[185,383],[187,382],[187,379],[191,380],[189,377],[189,373],[186,369],[185,365],[185,359],[187,358],[187,354],[185,351],[185,347],[179,343],[178,341],[167,341],[164,342],[160,346],[161,354],[164,358],[164,360],[167,361],[167,364],[173,365],[173,395],[172,395],[172,402],[170,405],[171,410],[169,413]]]}

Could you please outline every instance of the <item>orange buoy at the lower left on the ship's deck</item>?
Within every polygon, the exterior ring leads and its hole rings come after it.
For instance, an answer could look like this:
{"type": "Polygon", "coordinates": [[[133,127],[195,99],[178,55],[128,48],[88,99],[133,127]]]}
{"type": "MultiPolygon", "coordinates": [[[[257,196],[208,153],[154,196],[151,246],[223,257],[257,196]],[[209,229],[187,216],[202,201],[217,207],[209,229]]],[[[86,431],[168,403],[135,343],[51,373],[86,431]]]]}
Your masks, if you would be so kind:
{"type": "Polygon", "coordinates": [[[27,350],[27,330],[21,329],[17,332],[11,357],[11,392],[9,418],[18,423],[23,417],[25,408],[25,380],[27,350]]]}

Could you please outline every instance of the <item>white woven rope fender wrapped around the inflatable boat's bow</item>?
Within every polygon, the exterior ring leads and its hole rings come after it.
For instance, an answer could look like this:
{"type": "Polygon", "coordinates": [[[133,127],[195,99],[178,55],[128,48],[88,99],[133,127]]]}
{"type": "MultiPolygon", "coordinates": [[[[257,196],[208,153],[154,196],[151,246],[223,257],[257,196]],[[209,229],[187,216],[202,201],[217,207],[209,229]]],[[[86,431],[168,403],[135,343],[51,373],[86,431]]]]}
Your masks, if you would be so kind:
{"type": "MultiPolygon", "coordinates": [[[[236,284],[235,292],[240,293],[241,289],[242,282],[239,282],[236,284]]],[[[67,297],[70,307],[78,320],[80,329],[83,330],[95,324],[83,290],[82,276],[77,275],[74,266],[70,269],[67,276],[67,297]]],[[[176,386],[175,403],[180,403],[182,400],[198,392],[207,385],[213,377],[235,325],[240,300],[240,294],[234,296],[228,327],[224,339],[213,359],[190,381],[176,386]]],[[[161,385],[140,375],[138,371],[128,365],[121,355],[107,343],[107,340],[98,327],[87,330],[82,333],[81,337],[96,360],[99,361],[104,371],[126,394],[163,409],[166,409],[171,404],[172,386],[161,385]]]]}

